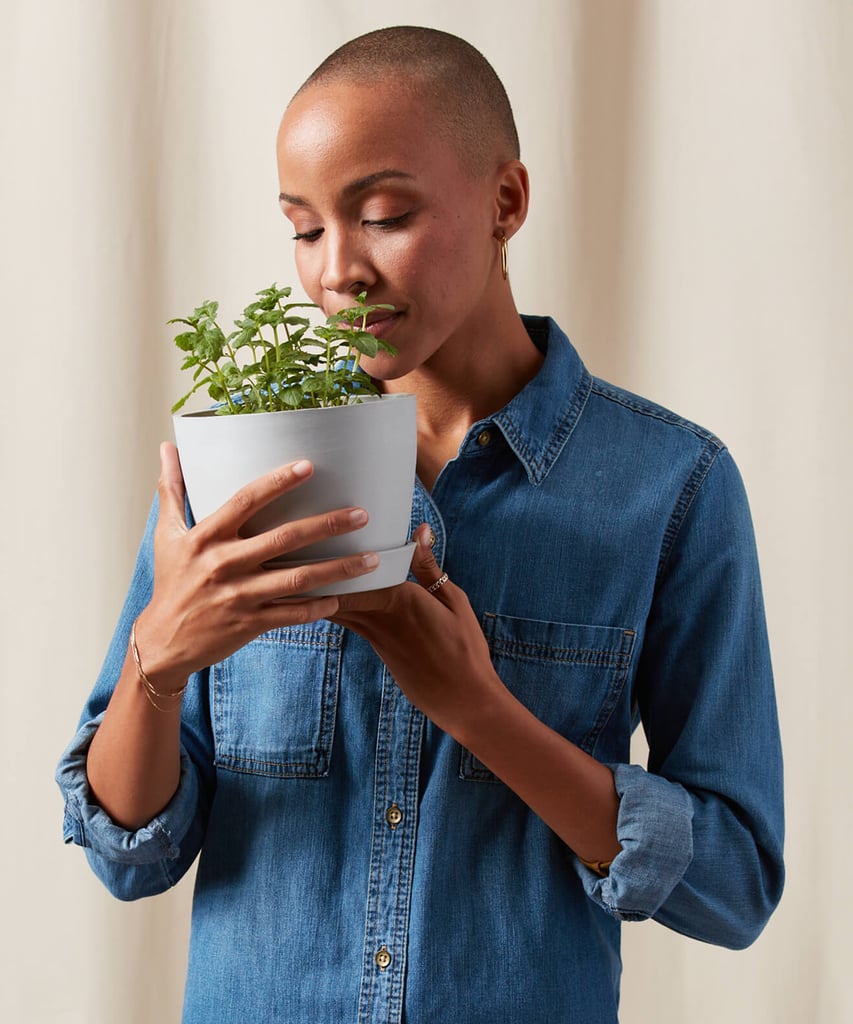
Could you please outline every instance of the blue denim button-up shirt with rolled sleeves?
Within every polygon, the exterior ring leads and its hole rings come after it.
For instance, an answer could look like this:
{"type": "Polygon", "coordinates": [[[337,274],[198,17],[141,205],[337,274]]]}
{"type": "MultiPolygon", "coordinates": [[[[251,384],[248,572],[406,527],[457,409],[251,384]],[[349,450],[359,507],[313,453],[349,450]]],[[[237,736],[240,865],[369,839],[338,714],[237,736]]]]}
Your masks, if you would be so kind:
{"type": "Polygon", "coordinates": [[[585,867],[326,621],[196,674],[177,793],[135,833],[112,822],[86,751],[151,596],[155,505],[57,778],[67,842],[118,897],[167,889],[201,850],[187,1024],[612,1024],[622,922],[742,947],[780,896],[781,754],[737,470],[712,434],[592,378],[553,322],[524,323],[540,373],[431,494],[417,484],[412,523],[432,527],[506,685],[612,767],[622,852],[605,878],[585,867]],[[629,764],[639,722],[646,768],[629,764]]]}

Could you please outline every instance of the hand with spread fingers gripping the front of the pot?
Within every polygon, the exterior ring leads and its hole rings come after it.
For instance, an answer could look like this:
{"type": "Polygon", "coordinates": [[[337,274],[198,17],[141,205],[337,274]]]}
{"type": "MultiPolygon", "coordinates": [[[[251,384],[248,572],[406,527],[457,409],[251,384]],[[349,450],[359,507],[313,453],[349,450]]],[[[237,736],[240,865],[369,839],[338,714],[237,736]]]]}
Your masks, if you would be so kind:
{"type": "Polygon", "coordinates": [[[154,593],[136,627],[145,674],[158,690],[179,690],[191,672],[222,660],[267,630],[333,615],[337,598],[298,595],[378,564],[375,554],[366,553],[298,568],[263,567],[307,544],[360,528],[368,521],[364,509],[300,519],[257,537],[241,535],[259,509],[310,477],[310,463],[258,477],[188,528],[177,450],[163,443],[160,454],[154,593]]]}

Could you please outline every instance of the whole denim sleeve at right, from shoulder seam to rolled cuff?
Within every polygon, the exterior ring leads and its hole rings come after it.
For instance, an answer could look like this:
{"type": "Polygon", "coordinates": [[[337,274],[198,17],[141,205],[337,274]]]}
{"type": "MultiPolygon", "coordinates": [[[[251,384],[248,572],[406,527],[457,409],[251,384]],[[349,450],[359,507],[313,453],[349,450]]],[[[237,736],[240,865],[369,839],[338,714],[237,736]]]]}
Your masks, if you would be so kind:
{"type": "Polygon", "coordinates": [[[782,757],[752,520],[722,450],[668,531],[635,683],[647,770],[613,768],[622,852],[589,896],[742,948],[781,896],[782,757]]]}

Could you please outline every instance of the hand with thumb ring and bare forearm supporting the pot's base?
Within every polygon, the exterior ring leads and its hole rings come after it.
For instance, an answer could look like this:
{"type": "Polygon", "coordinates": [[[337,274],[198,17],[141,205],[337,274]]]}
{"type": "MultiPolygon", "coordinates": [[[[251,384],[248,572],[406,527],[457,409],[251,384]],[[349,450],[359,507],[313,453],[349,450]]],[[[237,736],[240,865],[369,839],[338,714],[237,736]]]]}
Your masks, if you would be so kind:
{"type": "Polygon", "coordinates": [[[468,598],[444,580],[428,538],[428,527],[416,534],[417,584],[339,597],[333,622],[360,633],[412,703],[479,758],[579,856],[611,860],[621,849],[612,772],[510,693],[493,668],[468,598]]]}

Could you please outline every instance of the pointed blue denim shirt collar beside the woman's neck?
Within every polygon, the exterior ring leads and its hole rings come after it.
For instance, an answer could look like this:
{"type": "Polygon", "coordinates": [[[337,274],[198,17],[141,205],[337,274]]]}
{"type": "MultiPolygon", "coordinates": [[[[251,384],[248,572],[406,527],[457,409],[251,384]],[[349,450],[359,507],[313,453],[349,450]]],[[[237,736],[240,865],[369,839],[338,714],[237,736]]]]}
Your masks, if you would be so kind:
{"type": "Polygon", "coordinates": [[[549,316],[522,316],[545,354],[539,373],[492,417],[535,486],[557,461],[581,418],[592,377],[574,346],[549,316]]]}

